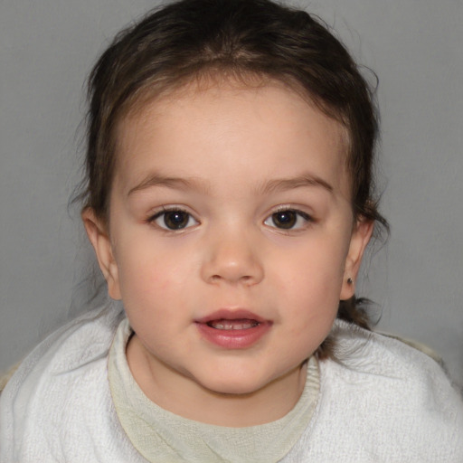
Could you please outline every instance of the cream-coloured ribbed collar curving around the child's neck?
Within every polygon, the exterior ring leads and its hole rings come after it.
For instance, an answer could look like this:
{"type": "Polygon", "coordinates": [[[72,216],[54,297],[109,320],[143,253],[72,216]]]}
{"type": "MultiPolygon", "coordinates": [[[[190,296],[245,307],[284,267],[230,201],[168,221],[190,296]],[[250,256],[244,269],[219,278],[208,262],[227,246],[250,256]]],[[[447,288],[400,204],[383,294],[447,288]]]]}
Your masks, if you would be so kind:
{"type": "Polygon", "coordinates": [[[314,357],[307,364],[304,391],[286,416],[261,426],[226,428],[187,420],[151,402],[128,368],[131,333],[128,320],[123,320],[109,350],[109,387],[122,428],[148,461],[276,462],[294,447],[312,419],[320,387],[314,357]]]}

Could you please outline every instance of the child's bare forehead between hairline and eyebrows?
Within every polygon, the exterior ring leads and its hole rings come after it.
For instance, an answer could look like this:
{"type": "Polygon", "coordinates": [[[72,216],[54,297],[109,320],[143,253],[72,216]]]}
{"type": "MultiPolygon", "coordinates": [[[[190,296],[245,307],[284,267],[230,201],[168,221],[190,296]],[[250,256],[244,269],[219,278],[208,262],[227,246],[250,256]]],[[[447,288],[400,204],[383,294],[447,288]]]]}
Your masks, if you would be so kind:
{"type": "Polygon", "coordinates": [[[306,150],[307,168],[348,194],[348,145],[340,123],[279,82],[195,83],[151,99],[122,118],[116,177],[136,181],[146,169],[201,176],[202,168],[205,175],[228,168],[232,173],[250,157],[262,173],[277,175],[277,169],[279,176],[291,176],[298,168],[295,159],[306,150]]]}

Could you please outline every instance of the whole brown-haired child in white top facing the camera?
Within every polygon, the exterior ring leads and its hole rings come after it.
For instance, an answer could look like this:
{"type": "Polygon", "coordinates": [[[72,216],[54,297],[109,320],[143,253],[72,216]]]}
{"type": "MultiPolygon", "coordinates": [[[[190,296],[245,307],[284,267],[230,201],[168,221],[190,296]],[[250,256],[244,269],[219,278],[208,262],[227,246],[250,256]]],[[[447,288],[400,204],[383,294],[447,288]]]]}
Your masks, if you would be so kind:
{"type": "Polygon", "coordinates": [[[376,132],[303,12],[183,0],[118,35],[82,211],[113,302],[7,383],[2,462],[463,461],[458,393],[354,296],[376,132]]]}

